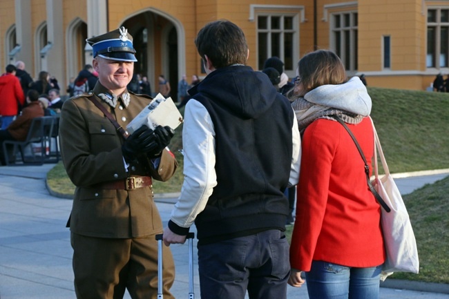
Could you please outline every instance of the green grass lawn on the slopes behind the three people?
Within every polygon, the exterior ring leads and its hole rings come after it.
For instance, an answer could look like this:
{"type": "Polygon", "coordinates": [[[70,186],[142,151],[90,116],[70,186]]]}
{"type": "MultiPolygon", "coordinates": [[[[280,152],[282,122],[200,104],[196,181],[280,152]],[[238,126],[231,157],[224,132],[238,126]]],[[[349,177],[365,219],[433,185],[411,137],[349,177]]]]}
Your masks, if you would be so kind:
{"type": "MultiPolygon", "coordinates": [[[[449,168],[449,93],[368,88],[372,119],[391,173],[449,168]]],[[[183,110],[181,111],[183,112],[183,110]]],[[[182,126],[170,144],[180,166],[169,182],[154,182],[155,193],[179,192],[182,185],[182,126]]],[[[47,177],[48,186],[73,194],[61,163],[47,177]]],[[[449,177],[404,196],[417,238],[420,273],[390,278],[449,283],[449,177]]],[[[292,226],[287,227],[287,234],[292,226]]]]}

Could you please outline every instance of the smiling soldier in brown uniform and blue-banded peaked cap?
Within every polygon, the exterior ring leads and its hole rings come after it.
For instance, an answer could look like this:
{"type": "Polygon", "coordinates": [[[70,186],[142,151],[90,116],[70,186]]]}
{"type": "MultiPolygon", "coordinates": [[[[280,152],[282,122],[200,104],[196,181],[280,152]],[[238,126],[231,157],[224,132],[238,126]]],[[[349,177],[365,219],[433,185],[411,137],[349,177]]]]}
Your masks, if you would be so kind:
{"type": "MultiPolygon", "coordinates": [[[[162,233],[162,221],[151,182],[169,180],[178,166],[166,148],[174,131],[142,126],[129,135],[123,129],[151,102],[126,89],[137,61],[127,30],[86,41],[99,81],[64,103],[59,127],[62,160],[76,186],[68,221],[75,292],[112,299],[128,289],[132,298],[156,298],[155,234],[162,233]]],[[[164,295],[173,298],[173,258],[163,250],[164,295]]]]}

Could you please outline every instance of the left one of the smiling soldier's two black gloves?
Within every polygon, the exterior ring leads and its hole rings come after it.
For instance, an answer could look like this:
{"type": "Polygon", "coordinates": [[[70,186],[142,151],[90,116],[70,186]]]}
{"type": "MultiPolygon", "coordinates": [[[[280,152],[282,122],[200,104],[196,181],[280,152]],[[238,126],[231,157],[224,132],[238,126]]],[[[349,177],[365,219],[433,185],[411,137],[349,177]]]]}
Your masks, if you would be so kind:
{"type": "Polygon", "coordinates": [[[154,151],[157,148],[155,134],[151,128],[143,125],[126,138],[122,144],[122,153],[127,163],[137,160],[137,157],[154,151]]]}

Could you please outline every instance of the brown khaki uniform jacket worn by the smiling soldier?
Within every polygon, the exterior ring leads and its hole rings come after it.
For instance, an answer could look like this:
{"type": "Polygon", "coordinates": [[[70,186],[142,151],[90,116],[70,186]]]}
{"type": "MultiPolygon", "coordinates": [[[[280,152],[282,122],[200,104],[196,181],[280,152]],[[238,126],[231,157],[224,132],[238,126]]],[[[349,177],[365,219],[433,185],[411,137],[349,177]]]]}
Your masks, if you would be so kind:
{"type": "Polygon", "coordinates": [[[99,238],[137,238],[162,232],[162,221],[153,202],[150,186],[126,190],[102,189],[101,184],[146,175],[166,181],[178,166],[174,156],[164,150],[154,168],[149,159],[124,165],[124,138],[97,108],[95,97],[123,128],[151,102],[146,95],[131,95],[128,107],[121,99],[112,108],[100,93],[109,93],[99,82],[89,94],[64,102],[59,122],[61,157],[68,177],[75,184],[70,231],[99,238]]]}

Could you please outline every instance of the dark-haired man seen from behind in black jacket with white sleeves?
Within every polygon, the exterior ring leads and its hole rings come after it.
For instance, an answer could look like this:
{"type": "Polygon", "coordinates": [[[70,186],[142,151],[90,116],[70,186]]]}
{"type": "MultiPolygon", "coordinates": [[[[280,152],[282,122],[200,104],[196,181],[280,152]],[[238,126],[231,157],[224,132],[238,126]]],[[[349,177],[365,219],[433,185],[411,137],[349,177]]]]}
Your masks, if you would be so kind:
{"type": "Polygon", "coordinates": [[[288,201],[299,176],[300,137],[287,98],[245,66],[242,30],[207,24],[195,44],[207,77],[189,90],[184,184],[164,229],[166,245],[198,230],[201,298],[286,298],[288,201]]]}

